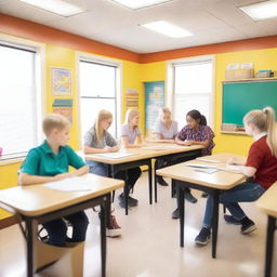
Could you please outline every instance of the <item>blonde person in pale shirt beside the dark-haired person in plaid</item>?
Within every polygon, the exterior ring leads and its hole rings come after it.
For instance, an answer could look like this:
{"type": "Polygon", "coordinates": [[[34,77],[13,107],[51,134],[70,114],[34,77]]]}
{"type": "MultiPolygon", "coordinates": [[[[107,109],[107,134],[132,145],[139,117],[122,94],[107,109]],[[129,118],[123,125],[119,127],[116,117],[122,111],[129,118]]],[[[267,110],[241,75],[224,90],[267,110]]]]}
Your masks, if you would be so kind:
{"type": "MultiPolygon", "coordinates": [[[[156,138],[164,143],[175,143],[175,137],[177,135],[177,122],[172,120],[172,115],[169,108],[163,107],[160,110],[160,118],[156,123],[155,130],[156,138]]],[[[172,159],[169,158],[158,158],[156,161],[156,168],[161,169],[163,167],[170,166],[172,159]]],[[[161,186],[168,186],[168,183],[162,179],[162,176],[157,176],[157,182],[161,186]]]]}

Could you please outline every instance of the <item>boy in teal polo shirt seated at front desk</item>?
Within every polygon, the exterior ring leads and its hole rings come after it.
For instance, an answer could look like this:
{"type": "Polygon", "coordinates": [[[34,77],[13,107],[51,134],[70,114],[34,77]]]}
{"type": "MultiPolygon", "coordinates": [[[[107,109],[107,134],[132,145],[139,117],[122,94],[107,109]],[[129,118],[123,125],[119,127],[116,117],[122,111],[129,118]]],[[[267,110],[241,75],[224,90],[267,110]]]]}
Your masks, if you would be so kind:
{"type": "MultiPolygon", "coordinates": [[[[42,184],[89,172],[89,167],[67,144],[70,122],[63,116],[50,114],[44,117],[42,129],[45,141],[29,150],[21,174],[21,185],[42,184]],[[68,172],[68,168],[76,170],[68,172]]],[[[72,225],[71,238],[67,237],[67,226],[63,219],[43,223],[49,235],[48,243],[64,247],[66,242],[84,241],[89,220],[83,211],[65,216],[72,225]]]]}

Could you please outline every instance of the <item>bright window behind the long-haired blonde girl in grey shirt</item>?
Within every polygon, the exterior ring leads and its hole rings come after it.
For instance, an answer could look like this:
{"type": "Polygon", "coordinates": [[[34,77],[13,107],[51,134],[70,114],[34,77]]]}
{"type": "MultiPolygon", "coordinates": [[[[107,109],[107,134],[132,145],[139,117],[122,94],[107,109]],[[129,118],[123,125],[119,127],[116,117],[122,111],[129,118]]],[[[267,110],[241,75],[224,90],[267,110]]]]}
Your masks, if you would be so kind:
{"type": "Polygon", "coordinates": [[[117,137],[119,114],[119,75],[117,64],[100,63],[91,60],[80,60],[80,123],[81,140],[93,126],[97,113],[107,109],[114,115],[114,122],[108,132],[117,137]]]}

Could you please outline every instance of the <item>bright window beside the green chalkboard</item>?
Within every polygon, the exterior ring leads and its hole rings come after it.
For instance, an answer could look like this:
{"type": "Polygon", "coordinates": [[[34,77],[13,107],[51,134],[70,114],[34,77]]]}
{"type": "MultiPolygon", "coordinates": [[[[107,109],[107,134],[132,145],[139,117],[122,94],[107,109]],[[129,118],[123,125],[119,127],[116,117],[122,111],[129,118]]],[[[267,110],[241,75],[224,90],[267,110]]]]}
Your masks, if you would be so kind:
{"type": "MultiPolygon", "coordinates": [[[[186,114],[198,109],[213,126],[213,58],[187,58],[171,63],[173,117],[182,128],[186,114]]],[[[169,90],[170,91],[170,90],[169,90]]]]}

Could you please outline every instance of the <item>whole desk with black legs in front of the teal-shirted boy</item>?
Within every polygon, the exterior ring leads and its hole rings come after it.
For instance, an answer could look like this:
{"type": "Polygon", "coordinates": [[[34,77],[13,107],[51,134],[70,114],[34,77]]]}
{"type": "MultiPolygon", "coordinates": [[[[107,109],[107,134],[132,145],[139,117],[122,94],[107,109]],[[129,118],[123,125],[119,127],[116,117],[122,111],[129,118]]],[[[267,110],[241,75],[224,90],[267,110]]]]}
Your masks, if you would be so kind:
{"type": "Polygon", "coordinates": [[[101,258],[102,276],[106,268],[105,214],[110,202],[110,192],[123,186],[123,181],[85,174],[81,177],[91,190],[58,192],[44,185],[16,186],[0,190],[0,206],[18,214],[26,223],[22,230],[27,245],[27,276],[34,275],[34,240],[38,224],[60,219],[88,208],[101,206],[101,258]]]}

